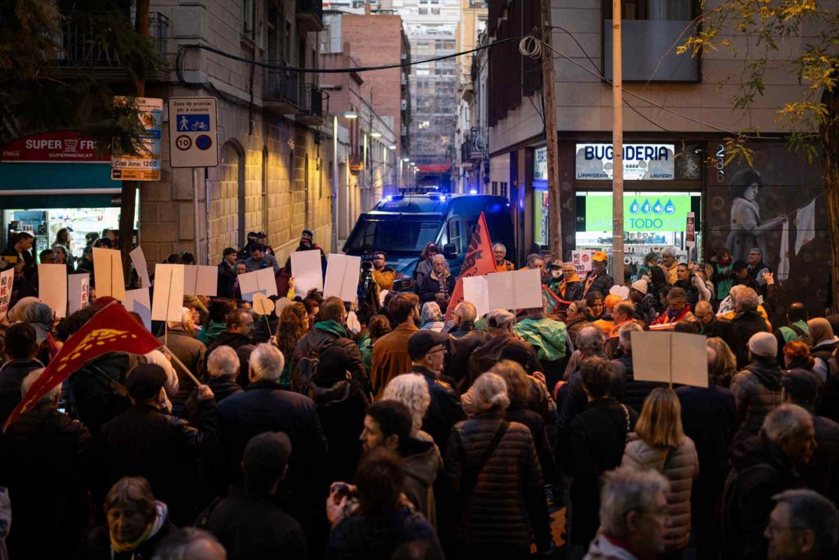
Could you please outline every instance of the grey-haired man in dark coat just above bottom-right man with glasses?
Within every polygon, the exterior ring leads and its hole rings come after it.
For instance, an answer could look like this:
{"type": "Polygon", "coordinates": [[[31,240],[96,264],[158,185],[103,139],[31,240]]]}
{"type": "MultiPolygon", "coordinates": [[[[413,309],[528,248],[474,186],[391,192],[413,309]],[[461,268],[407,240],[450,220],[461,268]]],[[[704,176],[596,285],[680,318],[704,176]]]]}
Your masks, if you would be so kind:
{"type": "Polygon", "coordinates": [[[732,471],[722,498],[723,558],[767,557],[764,531],[774,508],[773,496],[805,488],[800,472],[810,463],[815,447],[810,412],[790,404],[770,412],[758,436],[734,444],[732,471]]]}

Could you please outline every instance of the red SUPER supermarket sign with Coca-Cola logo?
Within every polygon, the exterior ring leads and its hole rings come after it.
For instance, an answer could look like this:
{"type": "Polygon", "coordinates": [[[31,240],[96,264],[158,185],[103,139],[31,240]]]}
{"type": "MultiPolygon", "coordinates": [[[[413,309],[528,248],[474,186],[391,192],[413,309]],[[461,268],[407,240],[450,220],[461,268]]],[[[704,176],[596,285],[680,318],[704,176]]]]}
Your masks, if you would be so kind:
{"type": "Polygon", "coordinates": [[[3,163],[89,164],[111,161],[111,154],[97,154],[96,142],[78,130],[29,134],[3,146],[3,163]]]}

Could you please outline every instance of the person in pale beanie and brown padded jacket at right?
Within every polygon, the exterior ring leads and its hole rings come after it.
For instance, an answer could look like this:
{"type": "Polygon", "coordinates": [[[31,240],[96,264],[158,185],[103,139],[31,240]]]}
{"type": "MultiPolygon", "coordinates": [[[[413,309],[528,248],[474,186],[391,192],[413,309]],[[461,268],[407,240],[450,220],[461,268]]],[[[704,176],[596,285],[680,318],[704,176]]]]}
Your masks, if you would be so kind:
{"type": "Polygon", "coordinates": [[[778,341],[771,332],[748,339],[748,365],[732,379],[731,391],[740,426],[734,442],[757,436],[763,420],[781,404],[778,341]]]}

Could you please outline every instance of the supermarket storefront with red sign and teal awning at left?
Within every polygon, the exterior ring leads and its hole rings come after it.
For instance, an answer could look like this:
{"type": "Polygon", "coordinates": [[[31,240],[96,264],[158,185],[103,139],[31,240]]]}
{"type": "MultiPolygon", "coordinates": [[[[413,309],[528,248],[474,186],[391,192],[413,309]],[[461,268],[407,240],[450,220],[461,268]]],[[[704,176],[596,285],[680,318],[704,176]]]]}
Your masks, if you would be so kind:
{"type": "Polygon", "coordinates": [[[5,224],[0,245],[5,247],[14,233],[29,232],[37,257],[51,247],[60,228],[70,228],[73,254],[81,257],[86,233],[119,228],[121,189],[122,183],[111,179],[110,156],[97,154],[93,141],[76,131],[15,139],[0,152],[5,224]]]}

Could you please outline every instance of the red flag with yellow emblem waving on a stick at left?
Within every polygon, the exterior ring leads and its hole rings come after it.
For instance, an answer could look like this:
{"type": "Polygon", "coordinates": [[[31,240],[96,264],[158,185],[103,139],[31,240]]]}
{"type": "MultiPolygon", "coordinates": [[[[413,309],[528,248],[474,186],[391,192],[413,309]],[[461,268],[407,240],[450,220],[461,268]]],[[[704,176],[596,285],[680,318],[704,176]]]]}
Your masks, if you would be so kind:
{"type": "Polygon", "coordinates": [[[91,317],[84,327],[64,343],[3,424],[3,432],[18,416],[29,410],[55,385],[70,377],[87,360],[107,352],[144,354],[159,346],[157,338],[114,301],[91,317]]]}

